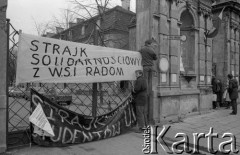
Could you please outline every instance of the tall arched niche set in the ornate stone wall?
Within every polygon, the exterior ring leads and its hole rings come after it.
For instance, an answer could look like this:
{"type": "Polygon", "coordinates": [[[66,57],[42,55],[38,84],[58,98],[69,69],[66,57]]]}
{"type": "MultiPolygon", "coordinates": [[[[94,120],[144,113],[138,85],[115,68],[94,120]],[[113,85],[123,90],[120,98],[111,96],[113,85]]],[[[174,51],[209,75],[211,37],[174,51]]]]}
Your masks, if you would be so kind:
{"type": "Polygon", "coordinates": [[[180,34],[186,36],[186,41],[181,42],[181,57],[186,74],[195,73],[195,29],[194,19],[189,10],[182,12],[180,34]]]}

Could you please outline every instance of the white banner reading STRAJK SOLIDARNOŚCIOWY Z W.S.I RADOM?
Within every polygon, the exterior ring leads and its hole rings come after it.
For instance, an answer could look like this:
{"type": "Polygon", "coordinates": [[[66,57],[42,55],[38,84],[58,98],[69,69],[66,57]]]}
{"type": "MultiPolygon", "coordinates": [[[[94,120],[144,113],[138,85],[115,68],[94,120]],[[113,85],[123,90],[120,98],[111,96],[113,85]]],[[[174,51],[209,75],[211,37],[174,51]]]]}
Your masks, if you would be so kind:
{"type": "Polygon", "coordinates": [[[16,83],[135,80],[139,52],[20,34],[16,83]]]}

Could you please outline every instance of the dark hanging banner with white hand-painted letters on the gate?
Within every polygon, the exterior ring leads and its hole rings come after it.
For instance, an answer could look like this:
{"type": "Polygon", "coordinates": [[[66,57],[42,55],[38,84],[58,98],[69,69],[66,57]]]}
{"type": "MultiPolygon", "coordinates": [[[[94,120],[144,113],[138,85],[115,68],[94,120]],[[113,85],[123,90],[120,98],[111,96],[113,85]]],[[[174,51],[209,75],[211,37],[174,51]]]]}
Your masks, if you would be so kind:
{"type": "MultiPolygon", "coordinates": [[[[33,125],[33,141],[41,146],[67,146],[120,135],[136,123],[129,96],[113,111],[97,117],[81,115],[55,104],[31,89],[33,111],[41,105],[53,133],[33,125]]],[[[40,115],[39,115],[40,116],[40,115]]]]}

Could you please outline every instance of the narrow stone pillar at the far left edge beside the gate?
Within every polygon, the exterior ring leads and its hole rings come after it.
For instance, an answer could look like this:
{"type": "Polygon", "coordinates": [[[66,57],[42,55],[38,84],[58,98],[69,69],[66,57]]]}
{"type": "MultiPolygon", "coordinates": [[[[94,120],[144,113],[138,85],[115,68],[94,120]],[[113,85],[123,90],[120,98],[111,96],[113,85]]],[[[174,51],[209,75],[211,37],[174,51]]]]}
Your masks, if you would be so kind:
{"type": "Polygon", "coordinates": [[[7,149],[7,0],[0,1],[0,153],[7,149]]]}

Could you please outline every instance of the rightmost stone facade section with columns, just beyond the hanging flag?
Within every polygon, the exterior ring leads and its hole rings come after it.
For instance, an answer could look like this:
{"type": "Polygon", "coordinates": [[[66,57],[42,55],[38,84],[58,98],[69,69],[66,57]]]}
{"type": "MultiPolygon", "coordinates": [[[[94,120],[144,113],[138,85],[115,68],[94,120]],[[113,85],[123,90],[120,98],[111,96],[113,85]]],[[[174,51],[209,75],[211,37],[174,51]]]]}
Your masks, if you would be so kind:
{"type": "Polygon", "coordinates": [[[213,39],[213,74],[223,82],[229,73],[239,80],[240,1],[217,0],[212,11],[214,15],[223,15],[213,39]]]}

